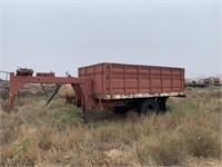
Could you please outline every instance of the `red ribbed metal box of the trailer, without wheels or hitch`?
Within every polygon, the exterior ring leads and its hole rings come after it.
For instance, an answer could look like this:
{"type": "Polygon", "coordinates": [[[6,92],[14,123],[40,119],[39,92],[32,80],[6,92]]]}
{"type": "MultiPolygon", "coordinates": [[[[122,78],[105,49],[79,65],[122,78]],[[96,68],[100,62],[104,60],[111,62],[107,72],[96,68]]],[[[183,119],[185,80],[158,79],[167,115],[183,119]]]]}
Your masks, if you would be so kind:
{"type": "Polygon", "coordinates": [[[93,80],[93,95],[98,97],[174,95],[184,90],[183,68],[98,63],[79,68],[79,77],[93,80]]]}

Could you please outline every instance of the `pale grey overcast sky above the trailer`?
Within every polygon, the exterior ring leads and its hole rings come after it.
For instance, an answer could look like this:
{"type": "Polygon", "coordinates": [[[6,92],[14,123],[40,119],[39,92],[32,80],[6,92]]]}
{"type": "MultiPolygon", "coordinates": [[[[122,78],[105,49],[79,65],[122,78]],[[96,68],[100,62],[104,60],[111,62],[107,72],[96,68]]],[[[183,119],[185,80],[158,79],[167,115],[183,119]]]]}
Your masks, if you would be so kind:
{"type": "Polygon", "coordinates": [[[65,71],[98,62],[221,72],[220,0],[1,0],[0,70],[65,71]]]}

